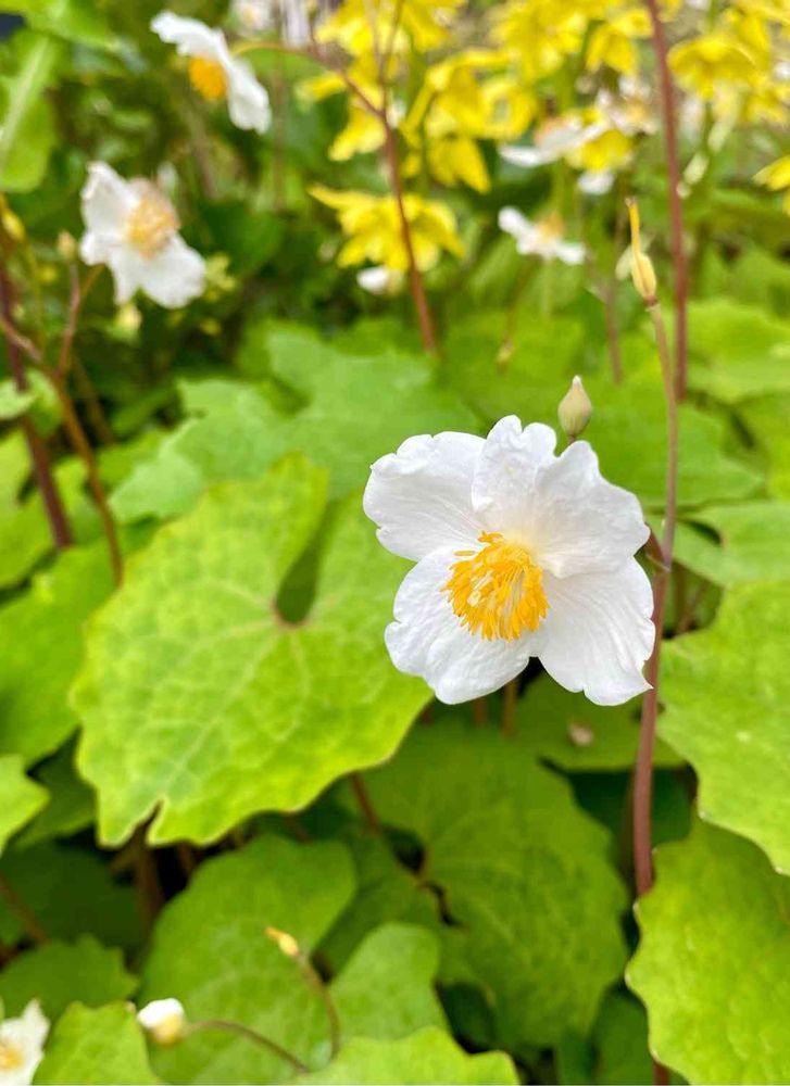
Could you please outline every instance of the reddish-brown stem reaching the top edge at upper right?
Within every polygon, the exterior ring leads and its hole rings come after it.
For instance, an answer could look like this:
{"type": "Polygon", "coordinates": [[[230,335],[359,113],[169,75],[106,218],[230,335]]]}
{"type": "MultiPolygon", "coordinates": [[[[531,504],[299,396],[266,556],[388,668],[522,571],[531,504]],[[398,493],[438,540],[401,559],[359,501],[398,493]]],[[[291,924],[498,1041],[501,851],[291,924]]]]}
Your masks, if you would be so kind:
{"type": "Polygon", "coordinates": [[[684,212],[680,199],[680,162],[678,154],[675,92],[667,60],[666,34],[659,13],[657,0],[644,0],[653,30],[653,51],[659,67],[659,90],[664,127],[666,174],[669,189],[669,222],[675,268],[675,396],[686,396],[688,369],[688,262],[684,245],[684,212]]]}

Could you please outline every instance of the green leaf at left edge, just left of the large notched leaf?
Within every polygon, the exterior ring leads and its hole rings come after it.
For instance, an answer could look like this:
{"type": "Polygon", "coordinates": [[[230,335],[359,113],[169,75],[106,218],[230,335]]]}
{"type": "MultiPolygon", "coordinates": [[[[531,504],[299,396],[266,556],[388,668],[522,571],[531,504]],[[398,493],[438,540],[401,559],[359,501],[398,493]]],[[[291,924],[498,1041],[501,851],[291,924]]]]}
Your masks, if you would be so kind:
{"type": "Polygon", "coordinates": [[[32,762],[74,730],[66,694],[83,656],[83,623],[111,584],[101,541],[64,552],[25,595],[0,608],[0,750],[32,762]]]}

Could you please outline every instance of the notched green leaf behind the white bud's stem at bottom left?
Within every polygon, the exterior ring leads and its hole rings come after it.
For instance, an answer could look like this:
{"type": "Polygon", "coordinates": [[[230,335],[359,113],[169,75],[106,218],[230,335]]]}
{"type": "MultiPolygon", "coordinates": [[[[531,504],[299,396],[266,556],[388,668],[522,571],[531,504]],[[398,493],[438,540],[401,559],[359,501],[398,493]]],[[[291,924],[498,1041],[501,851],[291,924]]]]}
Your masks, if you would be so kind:
{"type": "MultiPolygon", "coordinates": [[[[324,1005],[266,927],[287,932],[310,954],[353,891],[351,859],[335,842],[297,845],[260,837],[203,863],[159,918],[140,1002],[176,996],[192,1021],[240,1022],[308,1063],[325,1062],[324,1005]]],[[[292,1076],[290,1066],[264,1048],[218,1031],[159,1051],[155,1064],[164,1078],[180,1083],[292,1076]]]]}

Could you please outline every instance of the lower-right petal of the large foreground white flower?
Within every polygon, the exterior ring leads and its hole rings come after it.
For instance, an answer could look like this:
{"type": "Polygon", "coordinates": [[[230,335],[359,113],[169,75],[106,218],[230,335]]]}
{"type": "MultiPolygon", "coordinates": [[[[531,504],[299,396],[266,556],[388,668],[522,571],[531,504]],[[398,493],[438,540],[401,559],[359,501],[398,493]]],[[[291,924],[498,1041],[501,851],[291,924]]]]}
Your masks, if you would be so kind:
{"type": "Polygon", "coordinates": [[[642,667],[653,647],[653,595],[631,558],[614,572],[543,577],[549,614],[537,655],[561,686],[597,705],[619,705],[649,689],[642,667]]]}

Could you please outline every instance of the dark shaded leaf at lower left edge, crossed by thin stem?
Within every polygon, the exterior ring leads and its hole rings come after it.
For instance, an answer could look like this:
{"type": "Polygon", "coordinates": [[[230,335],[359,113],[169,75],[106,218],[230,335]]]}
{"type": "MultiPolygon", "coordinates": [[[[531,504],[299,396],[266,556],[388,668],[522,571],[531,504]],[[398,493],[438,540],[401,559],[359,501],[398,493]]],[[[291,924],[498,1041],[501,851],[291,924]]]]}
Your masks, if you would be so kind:
{"type": "MultiPolygon", "coordinates": [[[[9,849],[0,873],[51,938],[90,933],[108,946],[139,943],[135,893],[113,880],[96,853],[51,844],[9,849]]],[[[0,942],[15,945],[24,932],[16,913],[0,901],[0,942]]]]}

